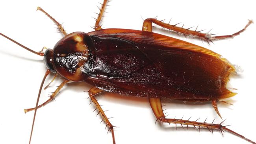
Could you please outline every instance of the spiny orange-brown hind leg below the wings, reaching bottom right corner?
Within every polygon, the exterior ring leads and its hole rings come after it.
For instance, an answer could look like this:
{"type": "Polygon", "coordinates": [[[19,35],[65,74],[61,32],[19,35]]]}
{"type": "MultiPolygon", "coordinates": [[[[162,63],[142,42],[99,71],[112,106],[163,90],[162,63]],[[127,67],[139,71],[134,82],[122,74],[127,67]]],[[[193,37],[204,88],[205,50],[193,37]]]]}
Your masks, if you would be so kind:
{"type": "Polygon", "coordinates": [[[190,121],[190,120],[182,120],[182,119],[175,119],[175,118],[165,118],[165,115],[163,113],[163,109],[162,109],[162,104],[161,104],[161,99],[160,98],[149,98],[149,103],[150,106],[152,108],[153,113],[155,114],[156,118],[158,121],[160,122],[165,122],[165,123],[169,123],[169,124],[181,124],[182,127],[183,125],[187,125],[187,126],[193,126],[193,127],[203,127],[203,128],[207,128],[212,132],[212,129],[217,129],[222,131],[228,131],[234,135],[236,135],[237,137],[243,138],[244,140],[247,140],[248,142],[252,143],[252,144],[256,144],[255,142],[253,142],[252,140],[245,138],[243,135],[240,135],[230,129],[227,128],[227,126],[223,126],[221,122],[220,124],[213,124],[213,122],[210,123],[206,123],[204,122],[197,122],[196,121],[190,121]]]}

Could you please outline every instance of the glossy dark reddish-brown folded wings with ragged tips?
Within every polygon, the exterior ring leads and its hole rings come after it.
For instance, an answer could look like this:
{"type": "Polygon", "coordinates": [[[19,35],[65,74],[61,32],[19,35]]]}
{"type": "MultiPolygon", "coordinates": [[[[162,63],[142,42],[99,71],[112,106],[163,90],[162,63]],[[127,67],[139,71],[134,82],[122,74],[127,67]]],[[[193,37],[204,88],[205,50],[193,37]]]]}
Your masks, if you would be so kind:
{"type": "Polygon", "coordinates": [[[219,100],[236,71],[221,55],[157,33],[105,29],[88,33],[95,63],[88,79],[109,92],[150,98],[219,100]]]}

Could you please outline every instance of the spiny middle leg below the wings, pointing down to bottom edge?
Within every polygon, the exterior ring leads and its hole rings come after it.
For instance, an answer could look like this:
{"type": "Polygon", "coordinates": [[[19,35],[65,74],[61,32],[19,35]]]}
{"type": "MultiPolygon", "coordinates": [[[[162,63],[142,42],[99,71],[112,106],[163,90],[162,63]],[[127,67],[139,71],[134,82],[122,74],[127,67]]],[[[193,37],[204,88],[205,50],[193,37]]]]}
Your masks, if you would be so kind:
{"type": "Polygon", "coordinates": [[[112,133],[113,144],[115,144],[115,135],[114,135],[114,129],[113,129],[114,126],[109,122],[108,117],[106,116],[106,114],[104,113],[104,111],[100,107],[100,104],[98,103],[98,101],[95,98],[95,95],[100,93],[100,92],[104,92],[104,90],[98,89],[96,87],[92,87],[89,90],[89,96],[90,96],[92,102],[94,103],[96,109],[100,113],[101,117],[106,122],[107,126],[109,127],[109,129],[110,129],[110,131],[112,133]]]}

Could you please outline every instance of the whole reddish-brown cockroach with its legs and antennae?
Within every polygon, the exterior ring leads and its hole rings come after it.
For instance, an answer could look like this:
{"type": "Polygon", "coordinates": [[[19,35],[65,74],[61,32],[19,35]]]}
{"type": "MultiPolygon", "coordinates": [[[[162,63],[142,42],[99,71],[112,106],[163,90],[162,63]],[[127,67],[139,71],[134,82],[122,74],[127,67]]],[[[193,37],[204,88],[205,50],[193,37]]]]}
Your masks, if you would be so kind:
{"type": "Polygon", "coordinates": [[[175,124],[175,126],[177,124],[182,127],[185,125],[187,129],[189,126],[198,127],[199,131],[201,127],[209,129],[210,132],[213,132],[213,129],[219,130],[221,133],[228,131],[252,144],[256,144],[223,126],[224,121],[214,124],[213,122],[207,123],[206,120],[197,122],[197,120],[189,120],[190,118],[184,120],[165,117],[161,104],[163,98],[198,102],[210,101],[221,117],[217,108],[217,101],[230,98],[236,94],[226,88],[230,76],[235,74],[236,70],[233,65],[215,52],[189,42],[152,32],[152,23],[155,23],[177,33],[192,35],[204,41],[212,42],[239,35],[252,23],[252,20],[249,20],[242,30],[232,35],[221,36],[200,33],[197,28],[195,31],[184,29],[183,26],[177,27],[156,18],[145,19],[142,31],[102,30],[99,23],[107,6],[106,4],[107,0],[104,0],[98,18],[95,18],[95,31],[88,34],[74,32],[69,35],[58,21],[38,7],[37,10],[51,18],[58,26],[59,31],[65,35],[63,39],[57,42],[53,50],[47,49],[45,53],[43,53],[43,50],[35,52],[0,33],[0,35],[26,50],[44,56],[47,71],[39,89],[36,106],[24,110],[25,113],[35,110],[30,140],[37,109],[54,100],[59,90],[70,81],[85,81],[93,85],[88,91],[89,98],[96,107],[95,111],[97,110],[98,114],[101,115],[102,121],[106,122],[106,127],[109,128],[108,131],[111,131],[113,144],[115,144],[115,126],[109,122],[109,118],[101,107],[102,105],[95,98],[96,94],[104,91],[148,98],[157,121],[175,124]],[[52,92],[46,102],[38,105],[44,81],[50,72],[56,74],[54,79],[60,75],[64,80],[52,92]]]}

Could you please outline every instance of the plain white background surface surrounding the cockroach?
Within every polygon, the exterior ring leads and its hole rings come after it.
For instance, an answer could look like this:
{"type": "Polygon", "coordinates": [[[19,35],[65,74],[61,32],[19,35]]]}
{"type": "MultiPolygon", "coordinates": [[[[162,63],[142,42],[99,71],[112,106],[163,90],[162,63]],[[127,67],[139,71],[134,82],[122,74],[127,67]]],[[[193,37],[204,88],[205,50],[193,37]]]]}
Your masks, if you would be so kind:
{"type": "MultiPolygon", "coordinates": [[[[68,33],[73,31],[93,31],[101,0],[83,1],[13,1],[0,4],[0,32],[39,51],[43,46],[53,48],[62,35],[54,29],[54,23],[40,11],[41,6],[52,17],[56,18],[68,33]]],[[[233,0],[112,0],[111,7],[104,18],[104,28],[126,28],[141,30],[143,20],[141,17],[166,19],[171,24],[185,23],[185,28],[198,26],[198,30],[213,28],[213,33],[220,35],[231,34],[242,29],[254,19],[255,4],[253,1],[233,0]]],[[[180,24],[180,26],[182,26],[180,24]]],[[[194,28],[195,29],[195,28],[194,28]]],[[[192,29],[193,30],[193,29],[192,29]]],[[[154,29],[155,32],[163,31],[154,29]]],[[[232,79],[231,85],[237,88],[238,94],[232,98],[232,105],[219,103],[219,111],[224,119],[224,125],[256,141],[255,137],[255,24],[247,31],[234,39],[217,41],[210,46],[200,40],[189,39],[183,36],[179,39],[209,48],[227,58],[231,63],[241,66],[243,73],[232,79]]],[[[164,33],[169,35],[169,33],[164,33]]],[[[177,35],[174,35],[177,37],[177,35]]],[[[43,57],[32,54],[16,44],[0,37],[0,143],[1,144],[27,144],[33,112],[24,114],[24,108],[35,106],[37,93],[46,67],[43,57]]],[[[53,75],[47,78],[46,84],[53,75]]],[[[41,94],[40,103],[47,99],[47,94],[59,85],[61,79],[54,81],[52,87],[41,94]]],[[[93,113],[95,107],[89,105],[87,92],[91,86],[85,83],[72,83],[65,86],[58,94],[56,101],[51,102],[37,111],[32,144],[111,144],[111,134],[104,130],[105,124],[100,124],[100,116],[93,113]]],[[[207,129],[189,128],[178,130],[174,125],[157,123],[150,109],[147,99],[102,94],[98,96],[99,103],[114,126],[117,144],[215,144],[244,143],[245,140],[230,133],[214,132],[212,135],[207,129]]],[[[201,118],[201,122],[208,116],[208,122],[221,122],[210,103],[182,103],[176,101],[165,102],[169,118],[184,119],[192,116],[191,120],[201,118]]]]}

